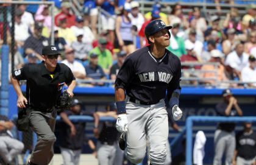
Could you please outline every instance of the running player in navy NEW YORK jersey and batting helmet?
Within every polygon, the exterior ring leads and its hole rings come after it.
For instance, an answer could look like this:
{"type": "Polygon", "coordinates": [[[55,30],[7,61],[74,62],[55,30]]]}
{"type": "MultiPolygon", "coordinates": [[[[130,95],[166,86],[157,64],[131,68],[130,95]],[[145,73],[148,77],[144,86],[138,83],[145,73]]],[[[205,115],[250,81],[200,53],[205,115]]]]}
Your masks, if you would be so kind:
{"type": "Polygon", "coordinates": [[[165,49],[169,45],[171,28],[160,19],[151,21],[144,30],[150,45],[130,54],[116,77],[116,128],[122,132],[119,147],[134,164],[144,158],[146,135],[150,163],[165,164],[168,139],[166,90],[174,120],[182,117],[178,107],[180,60],[165,49]]]}

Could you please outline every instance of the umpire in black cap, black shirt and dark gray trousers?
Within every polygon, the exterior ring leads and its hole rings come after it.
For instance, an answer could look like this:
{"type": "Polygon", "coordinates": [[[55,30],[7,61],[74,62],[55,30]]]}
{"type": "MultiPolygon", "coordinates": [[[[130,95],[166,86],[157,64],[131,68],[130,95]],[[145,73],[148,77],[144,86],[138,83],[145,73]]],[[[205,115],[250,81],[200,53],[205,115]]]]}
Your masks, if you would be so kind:
{"type": "Polygon", "coordinates": [[[31,111],[30,127],[37,133],[37,144],[28,164],[49,164],[54,155],[53,144],[56,140],[55,104],[65,83],[68,85],[66,91],[69,97],[74,95],[76,79],[68,66],[57,63],[59,55],[55,46],[44,46],[41,63],[24,65],[23,68],[13,71],[10,76],[18,96],[17,106],[31,111]],[[27,80],[26,97],[21,92],[20,80],[27,80]]]}

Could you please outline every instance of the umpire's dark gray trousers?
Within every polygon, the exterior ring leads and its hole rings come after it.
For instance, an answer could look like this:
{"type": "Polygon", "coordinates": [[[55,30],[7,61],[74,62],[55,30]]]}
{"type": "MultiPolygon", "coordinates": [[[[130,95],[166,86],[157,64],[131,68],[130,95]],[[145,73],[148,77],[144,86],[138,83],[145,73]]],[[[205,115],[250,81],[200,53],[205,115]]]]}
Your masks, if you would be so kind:
{"type": "Polygon", "coordinates": [[[32,152],[30,161],[38,165],[49,164],[54,155],[53,144],[56,141],[54,135],[57,112],[51,113],[31,111],[29,116],[30,126],[37,134],[37,143],[32,152]]]}

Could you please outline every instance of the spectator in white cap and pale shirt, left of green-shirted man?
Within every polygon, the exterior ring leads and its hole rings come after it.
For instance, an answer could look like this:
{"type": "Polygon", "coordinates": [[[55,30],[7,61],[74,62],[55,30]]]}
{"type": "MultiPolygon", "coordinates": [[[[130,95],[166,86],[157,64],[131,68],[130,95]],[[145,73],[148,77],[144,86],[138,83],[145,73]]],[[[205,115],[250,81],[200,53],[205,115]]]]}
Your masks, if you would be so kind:
{"type": "Polygon", "coordinates": [[[82,38],[84,32],[82,30],[76,31],[76,41],[73,41],[71,47],[74,49],[74,56],[77,60],[85,61],[88,59],[88,53],[93,49],[90,43],[85,43],[82,38]]]}

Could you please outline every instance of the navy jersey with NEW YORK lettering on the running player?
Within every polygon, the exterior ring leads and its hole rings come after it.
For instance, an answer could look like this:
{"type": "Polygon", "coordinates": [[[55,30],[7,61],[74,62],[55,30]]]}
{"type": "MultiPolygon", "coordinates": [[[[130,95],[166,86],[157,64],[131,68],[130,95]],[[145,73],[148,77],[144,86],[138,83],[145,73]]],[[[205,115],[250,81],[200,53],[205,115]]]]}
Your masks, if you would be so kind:
{"type": "Polygon", "coordinates": [[[162,58],[155,58],[150,46],[130,54],[121,66],[115,85],[130,97],[143,102],[158,102],[168,98],[179,87],[181,65],[179,58],[165,49],[162,58]]]}

